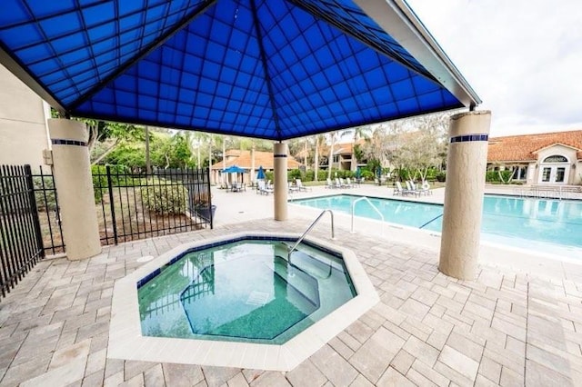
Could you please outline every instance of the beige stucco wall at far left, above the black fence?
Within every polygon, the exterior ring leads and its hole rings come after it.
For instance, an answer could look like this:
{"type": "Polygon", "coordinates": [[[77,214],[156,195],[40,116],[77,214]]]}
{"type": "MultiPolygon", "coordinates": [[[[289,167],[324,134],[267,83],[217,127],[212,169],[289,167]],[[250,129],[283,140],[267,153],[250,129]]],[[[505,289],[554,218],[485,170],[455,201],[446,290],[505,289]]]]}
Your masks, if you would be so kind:
{"type": "Polygon", "coordinates": [[[0,65],[0,164],[43,164],[48,105],[0,65]]]}

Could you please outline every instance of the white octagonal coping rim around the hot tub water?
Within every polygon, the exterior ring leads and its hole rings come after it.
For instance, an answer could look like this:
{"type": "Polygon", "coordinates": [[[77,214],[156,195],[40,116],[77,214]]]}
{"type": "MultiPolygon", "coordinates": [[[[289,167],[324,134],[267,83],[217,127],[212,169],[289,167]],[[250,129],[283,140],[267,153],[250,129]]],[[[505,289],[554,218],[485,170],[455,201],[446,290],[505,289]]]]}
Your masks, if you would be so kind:
{"type": "Polygon", "coordinates": [[[356,322],[362,314],[379,301],[374,285],[358,262],[356,253],[308,236],[306,242],[341,254],[347,272],[352,279],[352,284],[356,289],[356,296],[284,344],[221,342],[142,335],[137,300],[138,281],[188,249],[257,236],[298,238],[299,234],[232,233],[195,243],[184,243],[137,268],[134,273],[117,280],[111,305],[107,357],[143,362],[176,362],[269,371],[291,371],[317,352],[326,342],[345,330],[351,323],[356,322]]]}

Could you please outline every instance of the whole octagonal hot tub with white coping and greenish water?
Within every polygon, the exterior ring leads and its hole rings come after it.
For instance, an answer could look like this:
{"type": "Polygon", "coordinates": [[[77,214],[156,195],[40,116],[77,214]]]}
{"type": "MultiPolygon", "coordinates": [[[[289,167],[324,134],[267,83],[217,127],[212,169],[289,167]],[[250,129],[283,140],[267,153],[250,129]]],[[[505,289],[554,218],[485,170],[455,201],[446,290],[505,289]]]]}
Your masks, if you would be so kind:
{"type": "Polygon", "coordinates": [[[186,243],[115,283],[108,356],[289,371],[377,302],[350,250],[297,235],[186,243]]]}

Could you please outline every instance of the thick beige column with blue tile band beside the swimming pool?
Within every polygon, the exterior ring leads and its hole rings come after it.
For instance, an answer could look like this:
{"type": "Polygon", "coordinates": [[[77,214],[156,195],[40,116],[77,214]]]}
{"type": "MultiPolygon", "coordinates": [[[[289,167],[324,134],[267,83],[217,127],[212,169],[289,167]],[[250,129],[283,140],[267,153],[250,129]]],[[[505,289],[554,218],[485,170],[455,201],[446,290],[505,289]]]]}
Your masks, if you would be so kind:
{"type": "Polygon", "coordinates": [[[491,112],[451,117],[447,156],[447,189],[438,269],[452,277],[477,275],[487,139],[491,112]]]}

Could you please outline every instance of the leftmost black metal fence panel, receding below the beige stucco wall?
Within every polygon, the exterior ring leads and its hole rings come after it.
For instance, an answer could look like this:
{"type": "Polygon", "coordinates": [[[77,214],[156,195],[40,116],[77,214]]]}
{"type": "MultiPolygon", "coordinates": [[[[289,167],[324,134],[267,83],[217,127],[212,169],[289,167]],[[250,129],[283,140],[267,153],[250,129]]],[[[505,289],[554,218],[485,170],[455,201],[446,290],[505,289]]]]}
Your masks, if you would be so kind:
{"type": "Polygon", "coordinates": [[[0,167],[0,294],[45,257],[30,165],[0,167]]]}

